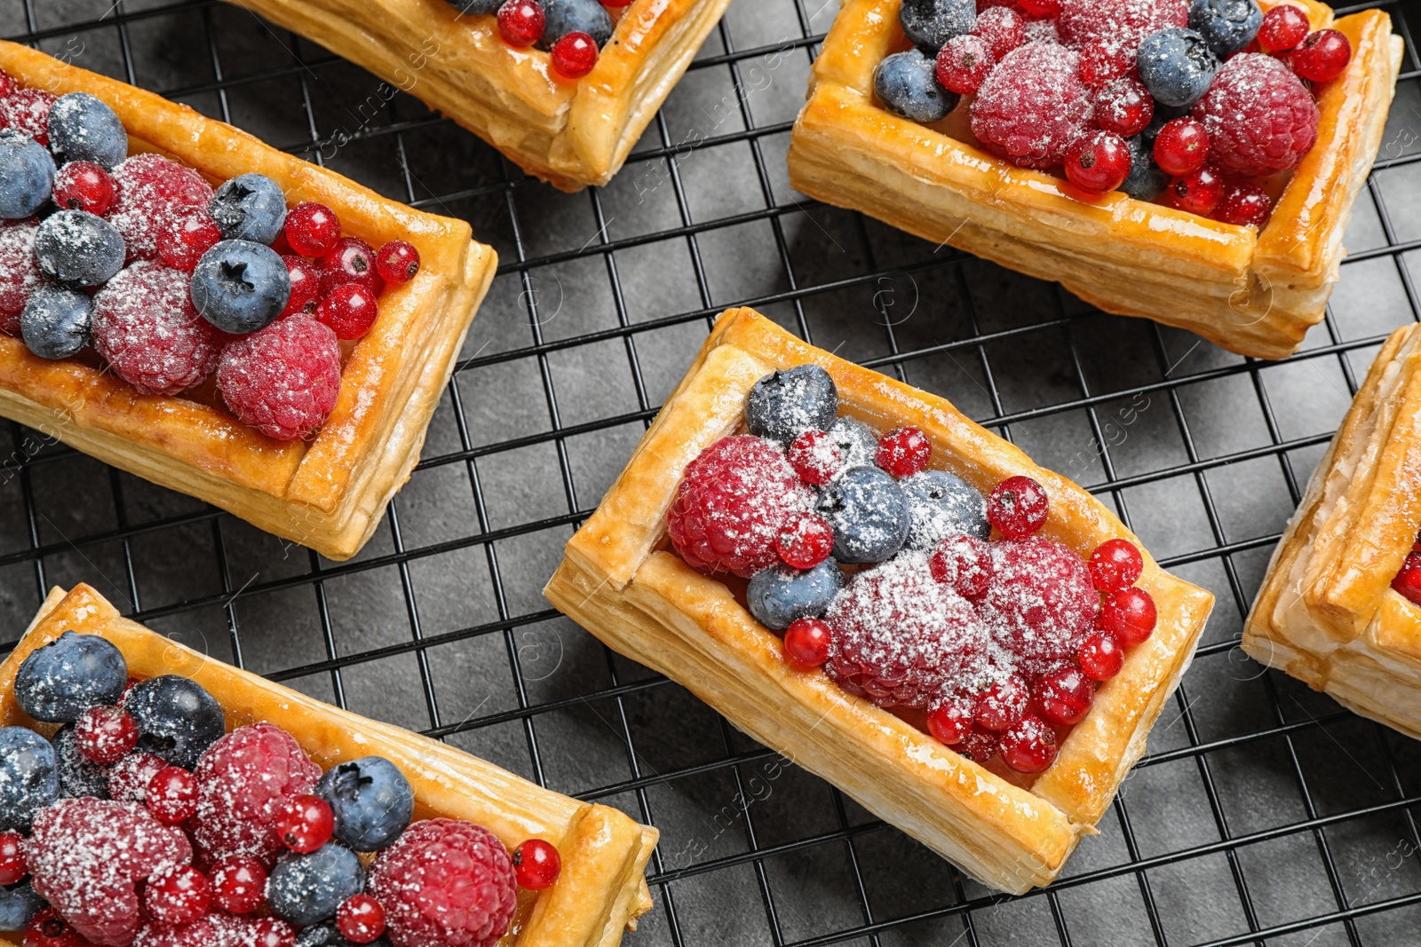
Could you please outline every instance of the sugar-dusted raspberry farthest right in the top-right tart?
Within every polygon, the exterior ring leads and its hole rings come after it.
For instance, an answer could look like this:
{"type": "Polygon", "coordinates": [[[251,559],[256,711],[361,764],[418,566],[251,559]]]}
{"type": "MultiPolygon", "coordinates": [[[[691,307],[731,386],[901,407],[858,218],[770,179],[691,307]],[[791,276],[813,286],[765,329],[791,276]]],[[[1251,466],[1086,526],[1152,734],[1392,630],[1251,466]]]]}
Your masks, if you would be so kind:
{"type": "Polygon", "coordinates": [[[1209,163],[1258,177],[1297,168],[1317,141],[1317,104],[1307,87],[1270,55],[1243,53],[1219,70],[1194,105],[1209,132],[1209,163]]]}

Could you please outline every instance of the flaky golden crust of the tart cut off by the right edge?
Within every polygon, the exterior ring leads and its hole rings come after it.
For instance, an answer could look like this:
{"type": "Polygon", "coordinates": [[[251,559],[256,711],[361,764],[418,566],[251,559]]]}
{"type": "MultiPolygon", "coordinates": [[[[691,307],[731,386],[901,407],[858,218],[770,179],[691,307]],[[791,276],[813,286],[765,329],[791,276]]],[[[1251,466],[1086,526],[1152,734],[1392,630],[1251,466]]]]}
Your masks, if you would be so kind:
{"type": "Polygon", "coordinates": [[[1421,606],[1391,589],[1421,528],[1421,327],[1397,329],[1273,551],[1243,650],[1421,738],[1421,606]]]}

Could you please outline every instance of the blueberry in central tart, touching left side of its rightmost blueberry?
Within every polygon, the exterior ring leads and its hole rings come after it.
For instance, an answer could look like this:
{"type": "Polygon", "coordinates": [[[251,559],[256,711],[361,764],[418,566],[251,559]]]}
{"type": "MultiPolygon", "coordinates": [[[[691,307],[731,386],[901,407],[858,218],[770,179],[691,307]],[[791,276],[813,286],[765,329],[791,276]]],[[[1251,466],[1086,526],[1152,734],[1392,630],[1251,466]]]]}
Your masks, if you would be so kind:
{"type": "Polygon", "coordinates": [[[840,562],[882,562],[908,538],[908,498],[878,467],[851,467],[828,483],[814,508],[834,527],[840,562]]]}

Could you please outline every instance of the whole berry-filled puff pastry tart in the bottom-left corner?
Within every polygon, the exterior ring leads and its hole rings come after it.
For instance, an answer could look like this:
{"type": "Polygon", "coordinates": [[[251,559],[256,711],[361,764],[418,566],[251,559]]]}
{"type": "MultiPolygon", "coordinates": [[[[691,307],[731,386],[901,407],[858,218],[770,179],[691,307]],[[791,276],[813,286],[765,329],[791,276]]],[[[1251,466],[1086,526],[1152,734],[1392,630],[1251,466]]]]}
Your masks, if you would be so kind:
{"type": "Polygon", "coordinates": [[[0,919],[27,944],[615,947],[652,906],[655,829],[192,652],[87,585],[0,664],[0,919]]]}

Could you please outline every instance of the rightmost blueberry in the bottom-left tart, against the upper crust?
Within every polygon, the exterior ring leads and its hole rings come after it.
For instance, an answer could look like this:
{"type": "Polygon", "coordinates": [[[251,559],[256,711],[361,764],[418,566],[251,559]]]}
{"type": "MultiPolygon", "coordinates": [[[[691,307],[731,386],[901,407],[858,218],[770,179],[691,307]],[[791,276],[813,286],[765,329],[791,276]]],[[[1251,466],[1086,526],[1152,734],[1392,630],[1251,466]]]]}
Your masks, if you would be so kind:
{"type": "Polygon", "coordinates": [[[331,804],[335,841],[357,852],[378,852],[409,826],[415,791],[384,757],[361,757],[331,767],[315,784],[315,795],[331,804]]]}

